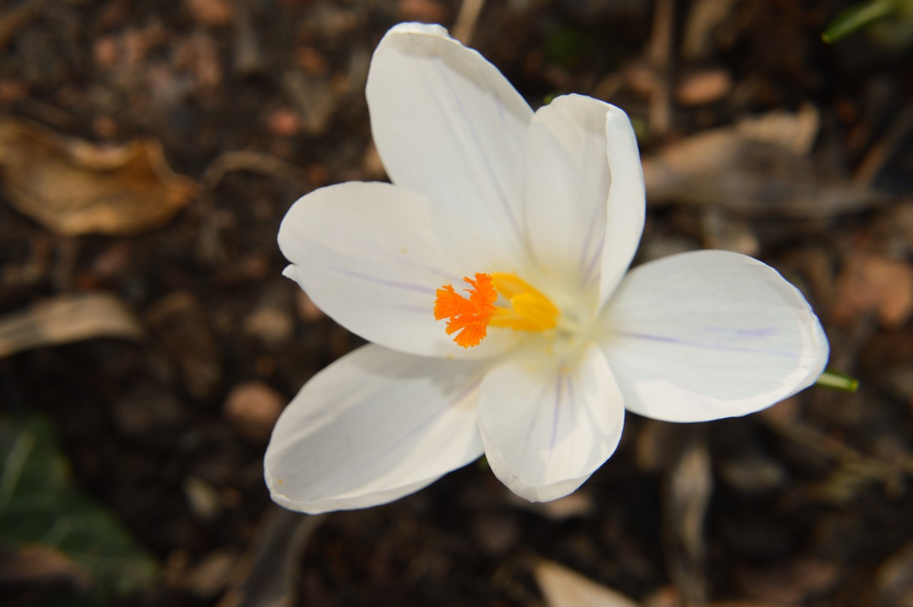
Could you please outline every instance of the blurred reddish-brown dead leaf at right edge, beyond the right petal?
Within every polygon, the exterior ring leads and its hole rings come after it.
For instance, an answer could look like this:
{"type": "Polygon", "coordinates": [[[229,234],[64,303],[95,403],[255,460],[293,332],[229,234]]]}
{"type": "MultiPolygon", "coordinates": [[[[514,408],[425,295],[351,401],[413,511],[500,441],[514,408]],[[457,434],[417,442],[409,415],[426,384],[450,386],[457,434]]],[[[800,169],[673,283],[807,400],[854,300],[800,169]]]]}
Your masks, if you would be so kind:
{"type": "Polygon", "coordinates": [[[899,329],[913,314],[913,267],[902,259],[854,254],[836,280],[834,320],[854,326],[876,313],[888,329],[899,329]]]}

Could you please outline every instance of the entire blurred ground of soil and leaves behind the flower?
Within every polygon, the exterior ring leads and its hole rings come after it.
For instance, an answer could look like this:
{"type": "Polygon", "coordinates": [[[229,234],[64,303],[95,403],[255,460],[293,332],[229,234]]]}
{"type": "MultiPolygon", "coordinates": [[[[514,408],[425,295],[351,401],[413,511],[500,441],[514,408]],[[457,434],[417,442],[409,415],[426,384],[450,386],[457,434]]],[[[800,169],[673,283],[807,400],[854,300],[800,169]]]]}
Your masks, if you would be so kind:
{"type": "Polygon", "coordinates": [[[0,602],[910,607],[911,43],[907,0],[0,2],[0,602]],[[381,508],[272,506],[278,413],[360,343],[281,277],[278,224],[385,178],[364,83],[411,20],[534,108],[626,110],[636,263],[758,256],[858,392],[629,414],[544,505],[477,464],[381,508]]]}

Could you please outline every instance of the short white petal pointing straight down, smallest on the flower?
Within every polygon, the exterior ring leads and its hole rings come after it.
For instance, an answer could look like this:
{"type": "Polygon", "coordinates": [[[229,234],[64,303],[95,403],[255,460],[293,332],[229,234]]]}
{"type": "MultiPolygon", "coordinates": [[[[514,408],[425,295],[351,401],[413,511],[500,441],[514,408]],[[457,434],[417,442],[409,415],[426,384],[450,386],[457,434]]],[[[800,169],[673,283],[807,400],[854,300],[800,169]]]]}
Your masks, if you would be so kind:
{"type": "Polygon", "coordinates": [[[624,405],[597,346],[573,358],[514,359],[482,380],[478,424],[488,464],[530,501],[563,497],[614,453],[624,405]]]}

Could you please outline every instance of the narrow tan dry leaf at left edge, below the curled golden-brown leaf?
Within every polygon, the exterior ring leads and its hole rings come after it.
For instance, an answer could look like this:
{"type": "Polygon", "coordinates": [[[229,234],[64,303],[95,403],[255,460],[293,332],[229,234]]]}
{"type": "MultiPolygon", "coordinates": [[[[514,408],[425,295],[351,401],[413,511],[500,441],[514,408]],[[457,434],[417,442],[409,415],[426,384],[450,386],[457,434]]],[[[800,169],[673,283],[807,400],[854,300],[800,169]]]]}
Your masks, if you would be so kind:
{"type": "Polygon", "coordinates": [[[0,318],[0,357],[96,337],[138,340],[142,327],[119,298],[103,293],[64,295],[0,318]]]}

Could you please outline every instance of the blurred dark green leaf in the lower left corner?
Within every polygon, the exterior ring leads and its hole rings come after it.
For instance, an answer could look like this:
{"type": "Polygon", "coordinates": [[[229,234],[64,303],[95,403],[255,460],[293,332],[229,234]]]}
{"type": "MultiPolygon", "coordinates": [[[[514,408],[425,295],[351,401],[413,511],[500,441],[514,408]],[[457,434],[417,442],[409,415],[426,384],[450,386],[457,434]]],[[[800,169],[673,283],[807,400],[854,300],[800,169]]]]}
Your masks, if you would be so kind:
{"type": "Polygon", "coordinates": [[[0,462],[3,543],[58,550],[89,572],[100,596],[125,596],[152,584],[155,560],[79,490],[45,420],[0,417],[0,462]]]}

